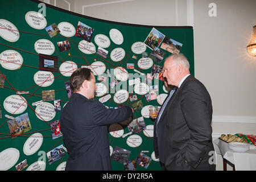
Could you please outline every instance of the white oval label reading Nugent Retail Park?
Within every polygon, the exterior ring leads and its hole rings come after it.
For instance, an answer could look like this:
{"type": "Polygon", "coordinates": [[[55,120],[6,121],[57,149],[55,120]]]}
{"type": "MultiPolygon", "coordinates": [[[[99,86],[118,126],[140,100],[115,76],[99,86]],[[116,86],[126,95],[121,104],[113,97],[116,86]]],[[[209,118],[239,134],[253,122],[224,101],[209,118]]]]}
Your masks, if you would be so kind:
{"type": "Polygon", "coordinates": [[[20,114],[27,109],[26,99],[19,95],[11,95],[3,101],[3,107],[8,113],[20,114]]]}

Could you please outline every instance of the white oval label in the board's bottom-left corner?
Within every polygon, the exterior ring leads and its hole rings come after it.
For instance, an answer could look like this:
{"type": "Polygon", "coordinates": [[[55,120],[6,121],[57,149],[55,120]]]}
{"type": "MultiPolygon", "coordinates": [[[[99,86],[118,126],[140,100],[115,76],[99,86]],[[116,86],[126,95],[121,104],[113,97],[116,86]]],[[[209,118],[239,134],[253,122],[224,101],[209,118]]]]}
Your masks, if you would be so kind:
{"type": "Polygon", "coordinates": [[[0,153],[0,171],[7,171],[19,160],[19,151],[16,148],[7,148],[0,153]]]}

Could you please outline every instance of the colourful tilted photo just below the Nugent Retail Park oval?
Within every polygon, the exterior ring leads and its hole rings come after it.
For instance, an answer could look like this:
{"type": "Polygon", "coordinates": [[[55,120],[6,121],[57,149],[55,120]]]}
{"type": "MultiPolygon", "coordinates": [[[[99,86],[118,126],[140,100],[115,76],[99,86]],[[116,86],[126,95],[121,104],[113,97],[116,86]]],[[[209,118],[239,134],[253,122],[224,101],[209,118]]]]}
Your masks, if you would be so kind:
{"type": "MultiPolygon", "coordinates": [[[[27,113],[19,115],[18,117],[7,121],[7,123],[8,123],[11,135],[20,135],[32,129],[30,124],[30,119],[28,118],[27,113]]],[[[14,136],[12,138],[14,139],[16,137],[17,136],[14,136]]]]}

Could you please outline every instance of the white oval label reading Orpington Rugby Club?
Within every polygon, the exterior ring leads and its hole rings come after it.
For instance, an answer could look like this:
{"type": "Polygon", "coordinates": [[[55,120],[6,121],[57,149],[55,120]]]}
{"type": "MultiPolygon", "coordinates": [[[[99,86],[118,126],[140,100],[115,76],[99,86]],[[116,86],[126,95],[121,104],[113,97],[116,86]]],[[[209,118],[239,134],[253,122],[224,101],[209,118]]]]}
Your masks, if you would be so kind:
{"type": "Polygon", "coordinates": [[[29,26],[35,29],[46,28],[47,20],[44,16],[36,11],[28,11],[25,15],[26,22],[29,26]]]}

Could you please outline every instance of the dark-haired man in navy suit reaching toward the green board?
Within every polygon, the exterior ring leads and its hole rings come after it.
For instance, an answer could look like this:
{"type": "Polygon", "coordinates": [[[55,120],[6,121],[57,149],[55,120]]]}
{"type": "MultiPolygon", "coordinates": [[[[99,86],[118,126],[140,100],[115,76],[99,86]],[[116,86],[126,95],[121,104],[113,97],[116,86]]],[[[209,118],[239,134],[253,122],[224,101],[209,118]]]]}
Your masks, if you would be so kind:
{"type": "Polygon", "coordinates": [[[128,106],[107,109],[93,100],[96,79],[88,68],[79,68],[70,78],[71,100],[60,115],[69,158],[65,170],[111,170],[108,125],[128,125],[133,110],[128,106]]]}

